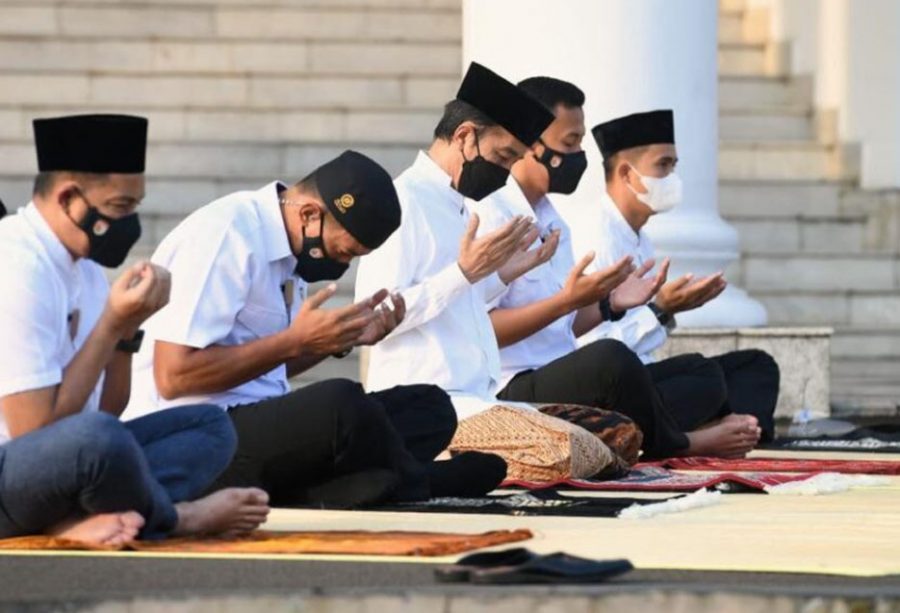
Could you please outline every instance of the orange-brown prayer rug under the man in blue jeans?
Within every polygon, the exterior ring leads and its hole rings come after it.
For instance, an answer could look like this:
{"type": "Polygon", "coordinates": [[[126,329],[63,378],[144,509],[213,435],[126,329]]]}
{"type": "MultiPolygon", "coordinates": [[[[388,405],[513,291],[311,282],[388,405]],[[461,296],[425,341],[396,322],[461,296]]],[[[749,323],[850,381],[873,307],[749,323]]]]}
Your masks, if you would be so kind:
{"type": "MultiPolygon", "coordinates": [[[[447,556],[485,547],[526,541],[529,530],[493,530],[480,534],[446,532],[269,532],[257,530],[234,539],[173,538],[136,541],[122,548],[150,553],[336,554],[366,556],[447,556]]],[[[51,536],[0,539],[0,550],[109,551],[51,536]]]]}

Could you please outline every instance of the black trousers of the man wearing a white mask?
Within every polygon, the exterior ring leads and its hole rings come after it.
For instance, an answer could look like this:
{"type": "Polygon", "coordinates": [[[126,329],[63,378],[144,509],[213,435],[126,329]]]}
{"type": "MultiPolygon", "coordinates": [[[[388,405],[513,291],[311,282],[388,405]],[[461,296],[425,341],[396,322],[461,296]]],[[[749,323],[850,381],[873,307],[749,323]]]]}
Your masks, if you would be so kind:
{"type": "Polygon", "coordinates": [[[686,353],[650,364],[648,370],[683,431],[741,413],[759,420],[763,442],[774,438],[781,376],[768,353],[747,349],[711,358],[686,353]]]}

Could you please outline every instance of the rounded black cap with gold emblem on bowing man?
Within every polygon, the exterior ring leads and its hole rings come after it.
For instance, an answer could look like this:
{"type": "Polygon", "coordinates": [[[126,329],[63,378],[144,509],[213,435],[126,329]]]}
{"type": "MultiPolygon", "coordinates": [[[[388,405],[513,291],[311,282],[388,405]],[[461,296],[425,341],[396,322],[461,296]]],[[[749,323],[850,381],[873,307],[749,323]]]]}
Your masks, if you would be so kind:
{"type": "Polygon", "coordinates": [[[316,172],[325,206],[350,235],[377,249],[400,227],[400,200],[387,171],[356,151],[344,151],[316,172]]]}

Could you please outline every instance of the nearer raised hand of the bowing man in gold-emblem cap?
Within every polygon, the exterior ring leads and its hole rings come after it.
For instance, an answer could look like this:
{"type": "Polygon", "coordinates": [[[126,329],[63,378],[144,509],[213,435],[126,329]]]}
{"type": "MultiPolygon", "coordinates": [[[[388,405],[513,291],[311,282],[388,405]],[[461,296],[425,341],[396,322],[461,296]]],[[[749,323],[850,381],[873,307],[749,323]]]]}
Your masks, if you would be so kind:
{"type": "Polygon", "coordinates": [[[323,309],[322,305],[337,291],[334,283],[310,296],[288,329],[293,342],[302,353],[330,355],[340,353],[359,344],[363,332],[375,319],[372,304],[387,297],[387,290],[377,292],[371,298],[340,307],[323,309]]]}

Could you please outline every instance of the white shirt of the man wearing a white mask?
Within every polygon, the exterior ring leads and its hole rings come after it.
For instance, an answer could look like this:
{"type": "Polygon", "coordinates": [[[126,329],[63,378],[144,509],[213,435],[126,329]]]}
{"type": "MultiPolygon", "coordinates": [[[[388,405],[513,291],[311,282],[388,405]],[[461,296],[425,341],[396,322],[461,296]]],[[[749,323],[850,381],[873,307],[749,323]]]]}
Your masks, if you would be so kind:
{"type": "MultiPolygon", "coordinates": [[[[635,232],[605,191],[600,201],[597,222],[591,228],[589,236],[587,233],[576,236],[576,244],[579,244],[580,239],[580,246],[585,251],[593,249],[597,253],[586,272],[611,266],[626,255],[634,257],[635,266],[653,259],[653,245],[647,233],[643,229],[635,232]]],[[[586,332],[579,337],[578,344],[584,346],[601,338],[612,338],[625,343],[644,364],[649,364],[654,361],[651,354],[662,347],[668,334],[656,314],[649,307],[640,306],[630,309],[619,321],[603,322],[586,332]]]]}

